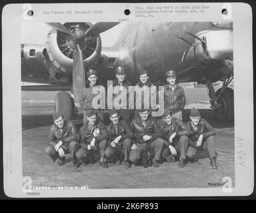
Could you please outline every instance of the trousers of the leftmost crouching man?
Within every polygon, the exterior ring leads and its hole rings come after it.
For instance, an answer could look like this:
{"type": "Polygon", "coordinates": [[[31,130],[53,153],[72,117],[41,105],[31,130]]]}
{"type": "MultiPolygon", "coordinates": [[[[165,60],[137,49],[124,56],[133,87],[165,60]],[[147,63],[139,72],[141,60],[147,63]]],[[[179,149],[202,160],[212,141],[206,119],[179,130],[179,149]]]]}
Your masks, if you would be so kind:
{"type": "MultiPolygon", "coordinates": [[[[71,141],[69,144],[65,144],[61,146],[63,148],[65,154],[70,153],[71,154],[71,160],[73,163],[77,162],[77,157],[75,156],[75,153],[79,150],[79,143],[76,141],[71,141]]],[[[47,146],[45,148],[45,152],[50,156],[51,160],[55,162],[57,158],[59,158],[59,152],[55,150],[55,148],[52,148],[51,146],[47,146]]]]}

